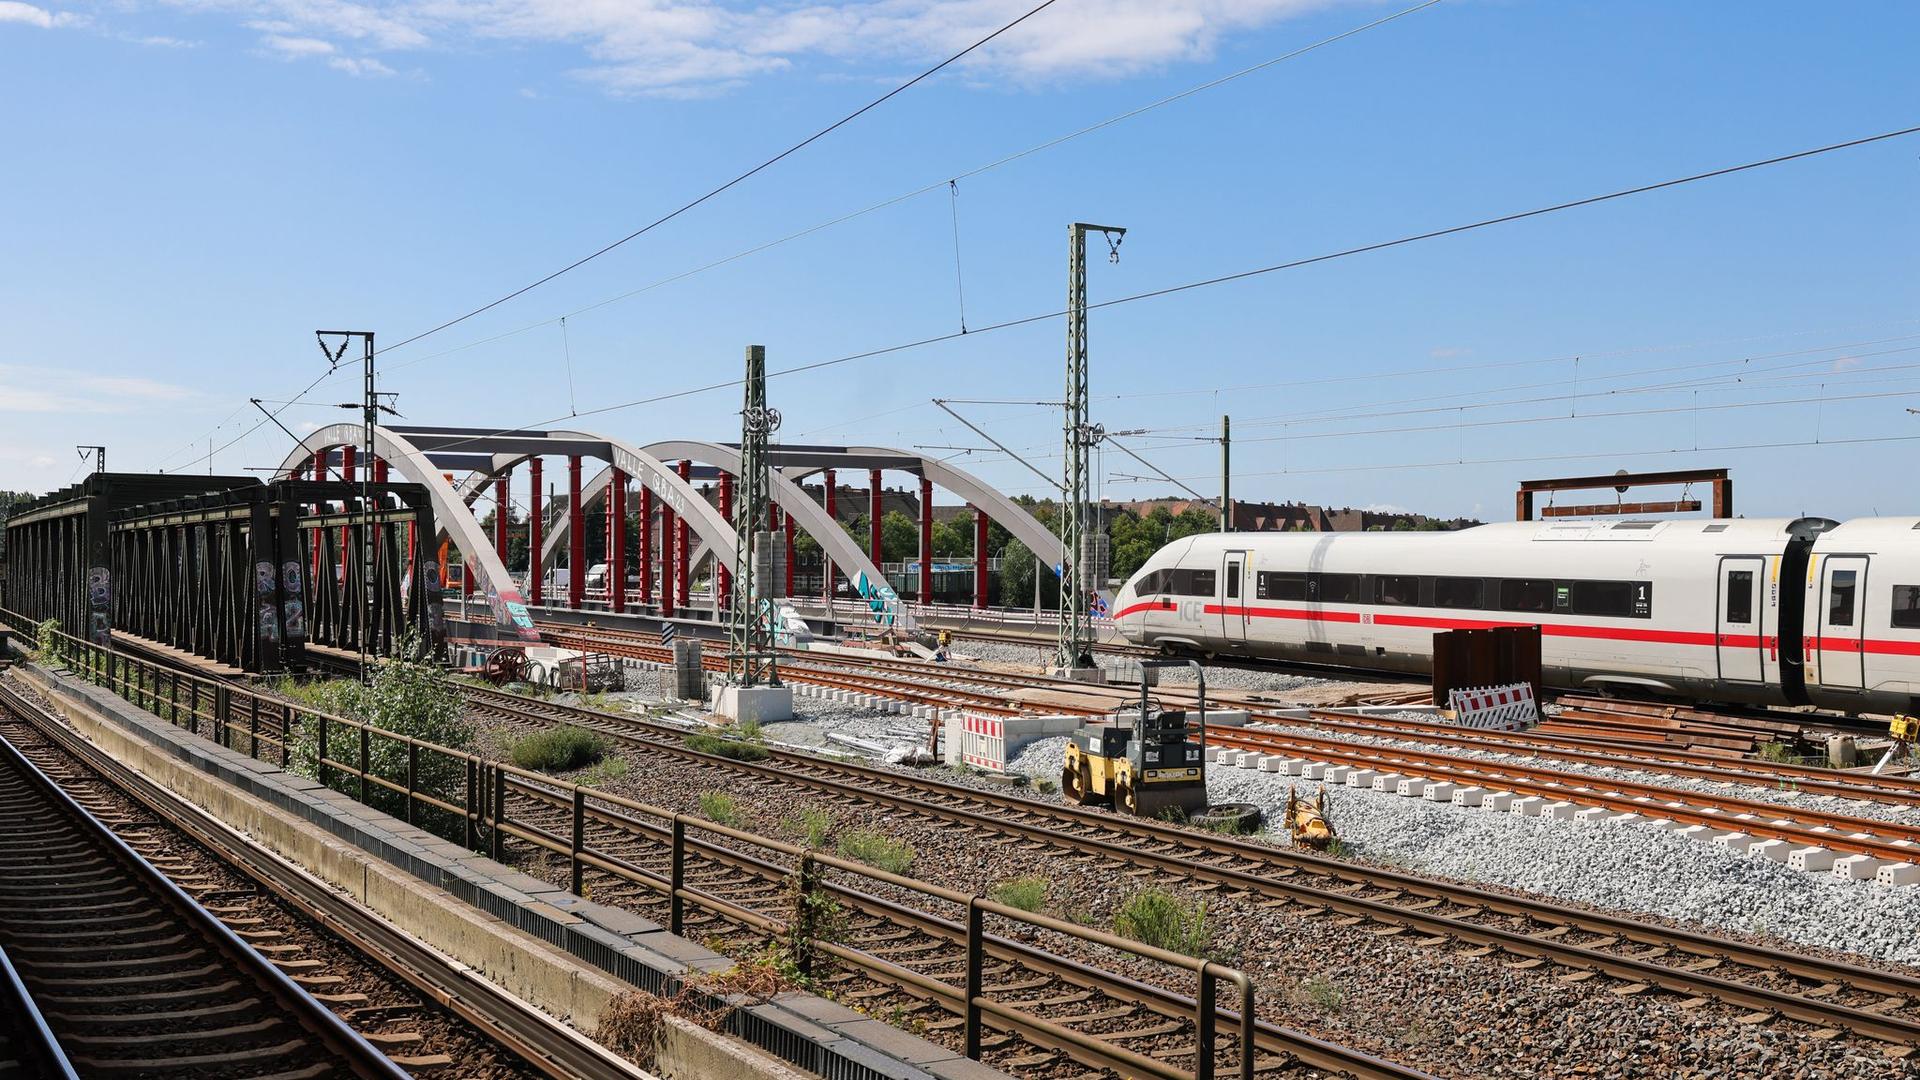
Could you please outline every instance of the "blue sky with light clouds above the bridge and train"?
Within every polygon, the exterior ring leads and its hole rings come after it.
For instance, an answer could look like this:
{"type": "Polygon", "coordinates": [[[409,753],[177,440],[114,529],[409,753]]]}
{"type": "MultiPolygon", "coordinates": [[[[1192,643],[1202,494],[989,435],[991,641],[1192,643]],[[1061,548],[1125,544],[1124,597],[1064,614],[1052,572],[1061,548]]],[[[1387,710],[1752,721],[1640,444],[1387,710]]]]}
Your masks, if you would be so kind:
{"type": "MultiPolygon", "coordinates": [[[[749,342],[781,369],[945,334],[954,204],[981,327],[1062,306],[1075,219],[1129,229],[1117,265],[1096,242],[1100,300],[1920,123],[1907,4],[1444,0],[966,177],[958,200],[937,186],[643,290],[1407,4],[1058,0],[685,217],[386,354],[384,384],[413,423],[507,427],[732,377],[749,342]]],[[[246,398],[323,371],[313,329],[397,342],[476,307],[1027,6],[0,0],[0,486],[60,486],[96,442],[115,469],[205,471],[209,436],[221,473],[278,463],[271,425],[240,438],[246,398]]],[[[1179,436],[1231,413],[1238,498],[1498,519],[1519,479],[1728,465],[1749,515],[1914,513],[1916,196],[1905,138],[1102,309],[1094,413],[1154,429],[1131,446],[1204,494],[1217,448],[1179,436]]],[[[927,400],[1054,400],[1062,354],[1052,319],[770,396],[791,442],[983,446],[927,400]]],[[[342,375],[313,400],[355,394],[342,375]]],[[[728,388],[578,425],[732,438],[737,409],[728,388]]],[[[1058,467],[1056,413],[968,413],[1058,467]]],[[[1039,494],[996,454],[958,461],[1039,494]]],[[[1102,465],[1106,496],[1171,488],[1102,465]]]]}

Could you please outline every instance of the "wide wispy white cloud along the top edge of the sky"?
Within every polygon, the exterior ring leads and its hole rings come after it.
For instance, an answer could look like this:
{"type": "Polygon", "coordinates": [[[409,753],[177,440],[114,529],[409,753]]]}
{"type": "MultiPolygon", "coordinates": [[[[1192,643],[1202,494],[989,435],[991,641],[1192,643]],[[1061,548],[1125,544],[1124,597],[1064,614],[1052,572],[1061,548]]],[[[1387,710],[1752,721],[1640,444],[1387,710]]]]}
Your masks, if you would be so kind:
{"type": "MultiPolygon", "coordinates": [[[[695,96],[801,63],[910,67],[1012,21],[1033,0],[159,0],[238,17],[280,56],[411,52],[474,42],[566,44],[572,75],[611,94],[695,96]],[[317,46],[324,44],[321,50],[317,46]],[[307,52],[296,52],[305,48],[307,52]]],[[[1121,77],[1208,60],[1235,33],[1365,0],[1071,0],[966,58],[975,81],[1121,77]]],[[[23,8],[25,4],[6,6],[23,8]]],[[[378,60],[328,65],[392,75],[378,60]]]]}

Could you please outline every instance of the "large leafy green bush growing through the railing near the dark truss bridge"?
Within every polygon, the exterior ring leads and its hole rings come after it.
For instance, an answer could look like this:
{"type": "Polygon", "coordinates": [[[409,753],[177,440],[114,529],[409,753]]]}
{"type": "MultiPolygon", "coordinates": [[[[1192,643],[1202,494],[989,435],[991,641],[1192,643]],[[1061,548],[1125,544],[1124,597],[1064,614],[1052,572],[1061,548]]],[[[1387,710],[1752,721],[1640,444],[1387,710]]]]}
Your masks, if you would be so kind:
{"type": "MultiPolygon", "coordinates": [[[[403,657],[417,655],[411,642],[401,642],[403,657]]],[[[453,680],[440,665],[422,659],[382,661],[372,675],[372,682],[292,682],[278,680],[275,690],[286,694],[307,709],[332,713],[349,721],[372,724],[386,732],[417,738],[444,746],[447,749],[468,749],[474,730],[461,721],[461,698],[453,680]]],[[[359,765],[359,732],[330,724],[326,757],[336,765],[321,776],[321,724],[313,717],[300,717],[294,732],[292,767],[301,776],[323,780],[326,786],[348,796],[359,796],[359,776],[340,765],[359,765]]],[[[407,784],[407,744],[396,738],[372,736],[367,742],[367,773],[392,784],[407,784]]],[[[467,767],[455,759],[434,751],[419,755],[415,788],[444,801],[465,798],[467,767]]],[[[392,792],[378,784],[367,784],[367,803],[394,817],[407,815],[405,792],[392,792]]],[[[415,821],[442,836],[457,836],[459,817],[420,805],[415,821]]]]}

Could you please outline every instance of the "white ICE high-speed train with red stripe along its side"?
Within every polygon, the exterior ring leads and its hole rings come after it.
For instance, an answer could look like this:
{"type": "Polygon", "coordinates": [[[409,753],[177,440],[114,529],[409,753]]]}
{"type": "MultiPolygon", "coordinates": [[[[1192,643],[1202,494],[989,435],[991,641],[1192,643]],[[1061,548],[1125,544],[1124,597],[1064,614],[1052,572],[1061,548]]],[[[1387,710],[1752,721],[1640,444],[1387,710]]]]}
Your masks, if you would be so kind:
{"type": "Polygon", "coordinates": [[[1434,630],[1538,625],[1551,686],[1920,711],[1920,519],[1213,532],[1114,598],[1167,651],[1427,673],[1434,630]]]}

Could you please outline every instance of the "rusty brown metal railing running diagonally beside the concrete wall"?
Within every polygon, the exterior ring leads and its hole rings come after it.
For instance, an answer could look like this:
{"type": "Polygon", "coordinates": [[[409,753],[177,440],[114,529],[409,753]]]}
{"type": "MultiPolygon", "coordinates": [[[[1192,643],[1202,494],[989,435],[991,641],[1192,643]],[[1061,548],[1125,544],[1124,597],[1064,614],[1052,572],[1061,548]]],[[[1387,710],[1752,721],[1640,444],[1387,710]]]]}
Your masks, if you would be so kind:
{"type": "MultiPolygon", "coordinates": [[[[31,621],[21,621],[4,609],[0,609],[0,619],[6,619],[31,638],[31,621]]],[[[459,822],[459,836],[453,840],[465,844],[468,849],[486,851],[493,859],[505,855],[509,840],[518,840],[551,855],[564,857],[570,869],[570,890],[576,896],[586,896],[588,892],[588,871],[599,871],[637,884],[666,899],[668,930],[674,934],[685,928],[689,907],[770,936],[783,936],[791,930],[781,919],[741,907],[687,884],[689,857],[730,865],[762,876],[797,880],[803,896],[828,894],[866,907],[881,905],[902,922],[916,924],[937,936],[947,934],[966,947],[964,986],[952,986],[950,982],[837,942],[822,940],[814,942],[812,947],[874,978],[937,997],[945,1007],[960,1013],[966,1055],[972,1059],[981,1057],[983,1032],[987,1026],[995,1026],[1037,1045],[1066,1051],[1083,1063],[1114,1068],[1123,1074],[1158,1076],[1162,1080],[1212,1080],[1215,1076],[1219,1034],[1225,1028],[1236,1036],[1236,1074],[1244,1080],[1250,1080],[1254,1074],[1254,982],[1233,967],[1010,907],[985,896],[933,886],[866,863],[718,824],[703,817],[570,784],[503,761],[488,761],[476,753],[296,705],[246,686],[179,671],[71,634],[54,634],[54,657],[42,659],[56,659],[71,673],[111,690],[119,698],[192,734],[211,738],[219,746],[253,759],[276,763],[282,769],[296,759],[300,732],[311,728],[313,744],[307,751],[311,753],[311,761],[305,761],[305,765],[311,765],[313,778],[321,784],[355,796],[363,803],[376,792],[390,792],[405,801],[403,817],[409,824],[417,824],[420,807],[442,811],[459,822]],[[374,749],[386,744],[399,746],[405,751],[405,765],[397,776],[384,776],[372,767],[374,749]],[[465,782],[455,780],[449,784],[451,792],[444,786],[422,784],[422,776],[428,773],[424,765],[430,765],[434,759],[457,765],[449,773],[455,776],[465,773],[465,782]],[[561,811],[566,824],[555,830],[534,822],[524,813],[516,817],[509,811],[513,799],[561,811]],[[660,844],[666,849],[666,871],[639,867],[597,846],[591,840],[595,834],[641,838],[660,844]],[[772,853],[778,859],[722,844],[716,838],[772,853]],[[828,880],[828,871],[845,874],[851,880],[828,880]],[[856,888],[856,882],[862,880],[948,903],[962,917],[941,919],[927,911],[879,899],[856,888]],[[1194,1068],[1179,1068],[1158,1057],[1137,1053],[1116,1042],[1066,1028],[996,1001],[987,992],[983,978],[987,957],[1027,963],[1062,974],[1087,970],[1098,976],[1104,972],[1089,969],[1079,961],[1054,957],[1039,945],[989,934],[987,917],[1023,926],[1029,934],[1060,934],[1194,976],[1194,995],[1185,1007],[1171,1007],[1169,1003],[1177,1003],[1181,997],[1169,992],[1160,992],[1158,1001],[1162,1013],[1173,1015],[1175,1011],[1185,1011],[1192,1019],[1194,1068]],[[1236,1009],[1219,1007],[1219,988],[1223,982],[1229,986],[1236,1009]]],[[[305,757],[305,753],[300,753],[300,757],[305,757]]],[[[1129,982],[1119,976],[1106,976],[1106,980],[1114,986],[1129,982]]]]}

